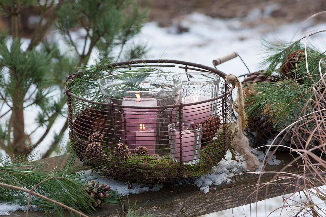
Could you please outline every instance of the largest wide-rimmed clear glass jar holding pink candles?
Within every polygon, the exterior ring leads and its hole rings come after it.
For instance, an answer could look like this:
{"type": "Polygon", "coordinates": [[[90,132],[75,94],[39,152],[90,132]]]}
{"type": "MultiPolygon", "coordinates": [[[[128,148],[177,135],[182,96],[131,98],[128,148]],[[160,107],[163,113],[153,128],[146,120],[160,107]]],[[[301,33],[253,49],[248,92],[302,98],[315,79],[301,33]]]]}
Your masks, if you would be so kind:
{"type": "Polygon", "coordinates": [[[128,145],[131,152],[145,146],[152,155],[157,154],[159,148],[168,149],[164,147],[168,143],[168,135],[162,132],[167,132],[173,111],[156,107],[178,103],[181,79],[164,73],[125,72],[102,78],[99,87],[106,103],[122,105],[116,108],[121,113],[118,121],[121,123],[118,126],[120,143],[128,145]]]}

